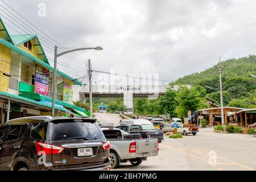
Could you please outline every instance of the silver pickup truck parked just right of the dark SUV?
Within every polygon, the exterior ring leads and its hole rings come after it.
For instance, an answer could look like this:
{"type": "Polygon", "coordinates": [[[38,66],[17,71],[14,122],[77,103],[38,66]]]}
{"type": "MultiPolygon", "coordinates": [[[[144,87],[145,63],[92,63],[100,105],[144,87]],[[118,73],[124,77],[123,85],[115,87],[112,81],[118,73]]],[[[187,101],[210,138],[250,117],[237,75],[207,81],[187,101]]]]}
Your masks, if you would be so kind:
{"type": "MultiPolygon", "coordinates": [[[[149,156],[158,155],[158,139],[123,139],[119,129],[101,128],[106,139],[110,142],[111,168],[117,168],[119,163],[130,162],[138,166],[149,156]]],[[[127,133],[128,134],[128,133],[127,133]]]]}

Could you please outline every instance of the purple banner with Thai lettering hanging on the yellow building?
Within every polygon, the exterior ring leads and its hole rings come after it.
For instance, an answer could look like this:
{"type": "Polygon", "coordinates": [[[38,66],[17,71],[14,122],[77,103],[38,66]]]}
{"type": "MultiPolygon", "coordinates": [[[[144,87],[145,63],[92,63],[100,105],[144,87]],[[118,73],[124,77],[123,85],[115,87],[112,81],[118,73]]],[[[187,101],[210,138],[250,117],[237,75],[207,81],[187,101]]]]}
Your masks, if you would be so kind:
{"type": "Polygon", "coordinates": [[[40,65],[36,64],[36,72],[35,72],[35,92],[42,94],[44,96],[48,96],[48,88],[49,88],[49,71],[46,68],[40,67],[40,65]]]}

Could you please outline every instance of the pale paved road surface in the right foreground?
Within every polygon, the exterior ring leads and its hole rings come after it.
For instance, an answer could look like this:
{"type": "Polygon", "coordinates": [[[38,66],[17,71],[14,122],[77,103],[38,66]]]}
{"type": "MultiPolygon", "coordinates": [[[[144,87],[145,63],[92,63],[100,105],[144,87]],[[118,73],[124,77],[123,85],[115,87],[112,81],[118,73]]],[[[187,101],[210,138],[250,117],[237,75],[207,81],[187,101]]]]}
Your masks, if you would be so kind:
{"type": "Polygon", "coordinates": [[[255,170],[256,138],[246,134],[217,134],[200,129],[197,135],[165,136],[159,155],[140,166],[123,163],[113,170],[255,170]]]}

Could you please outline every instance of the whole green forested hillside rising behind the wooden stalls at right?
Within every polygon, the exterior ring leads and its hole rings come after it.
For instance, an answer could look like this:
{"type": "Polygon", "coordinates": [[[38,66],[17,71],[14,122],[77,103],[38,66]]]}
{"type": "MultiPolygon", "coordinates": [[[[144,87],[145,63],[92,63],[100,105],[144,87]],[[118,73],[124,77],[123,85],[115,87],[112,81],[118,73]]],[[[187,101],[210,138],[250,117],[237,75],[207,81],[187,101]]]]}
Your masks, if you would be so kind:
{"type": "MultiPolygon", "coordinates": [[[[216,64],[217,65],[217,64],[216,64]]],[[[208,97],[220,104],[218,68],[214,65],[200,73],[179,78],[175,84],[191,84],[203,86],[208,97]],[[207,86],[213,89],[209,89],[207,86]]],[[[256,107],[256,56],[241,57],[221,62],[224,105],[234,107],[256,107]]]]}

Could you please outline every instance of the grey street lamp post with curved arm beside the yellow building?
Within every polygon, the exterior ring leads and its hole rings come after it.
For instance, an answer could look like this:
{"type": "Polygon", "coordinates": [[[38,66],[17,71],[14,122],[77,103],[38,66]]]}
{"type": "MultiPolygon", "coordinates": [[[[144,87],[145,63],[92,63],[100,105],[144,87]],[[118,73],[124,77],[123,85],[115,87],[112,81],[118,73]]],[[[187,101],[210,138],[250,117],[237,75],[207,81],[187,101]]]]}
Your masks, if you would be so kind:
{"type": "Polygon", "coordinates": [[[57,77],[57,57],[62,56],[66,53],[69,52],[75,52],[75,51],[81,51],[81,50],[88,50],[88,49],[95,49],[97,51],[101,51],[103,48],[100,46],[97,47],[87,47],[87,48],[75,48],[75,49],[71,49],[68,51],[64,51],[61,53],[57,53],[57,46],[55,46],[55,51],[54,51],[54,70],[53,70],[53,86],[52,86],[52,117],[55,116],[55,92],[56,92],[56,77],[57,77]]]}

